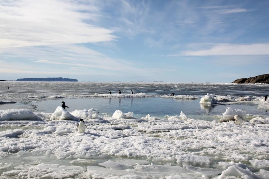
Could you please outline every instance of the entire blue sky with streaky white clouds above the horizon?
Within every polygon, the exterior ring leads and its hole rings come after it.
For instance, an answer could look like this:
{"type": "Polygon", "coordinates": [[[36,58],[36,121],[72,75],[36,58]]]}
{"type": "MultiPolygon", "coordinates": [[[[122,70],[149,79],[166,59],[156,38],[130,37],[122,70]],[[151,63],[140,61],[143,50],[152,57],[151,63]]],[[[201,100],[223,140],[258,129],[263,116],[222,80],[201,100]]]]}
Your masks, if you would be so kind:
{"type": "Polygon", "coordinates": [[[0,80],[232,82],[267,74],[267,0],[0,0],[0,80]]]}

